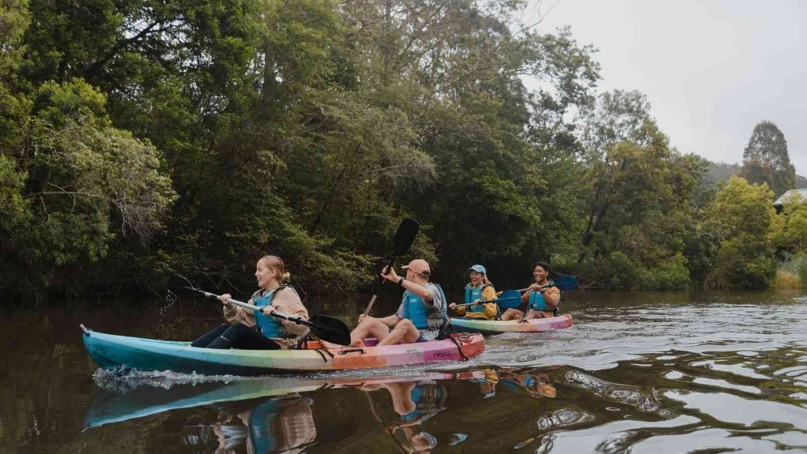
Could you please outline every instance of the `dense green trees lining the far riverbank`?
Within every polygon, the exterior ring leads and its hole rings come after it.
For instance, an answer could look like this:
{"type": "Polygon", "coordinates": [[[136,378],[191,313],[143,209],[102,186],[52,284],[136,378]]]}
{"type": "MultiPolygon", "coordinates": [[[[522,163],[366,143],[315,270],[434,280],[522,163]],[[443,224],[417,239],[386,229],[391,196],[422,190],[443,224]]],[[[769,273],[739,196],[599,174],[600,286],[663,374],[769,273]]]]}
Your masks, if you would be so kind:
{"type": "Polygon", "coordinates": [[[4,301],[161,295],[172,272],[246,292],[267,253],[309,296],[353,292],[406,216],[449,289],[538,259],[587,288],[765,288],[799,257],[776,125],[728,178],[641,93],[598,95],[595,48],[526,6],[0,3],[4,301]]]}

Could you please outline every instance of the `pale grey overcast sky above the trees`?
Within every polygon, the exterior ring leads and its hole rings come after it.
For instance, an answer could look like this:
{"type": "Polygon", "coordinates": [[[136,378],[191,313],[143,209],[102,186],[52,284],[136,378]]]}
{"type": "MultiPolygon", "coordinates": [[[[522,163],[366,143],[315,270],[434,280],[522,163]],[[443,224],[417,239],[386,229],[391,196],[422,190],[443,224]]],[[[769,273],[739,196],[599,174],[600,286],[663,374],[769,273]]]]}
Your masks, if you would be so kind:
{"type": "Polygon", "coordinates": [[[770,120],[807,176],[807,1],[553,1],[538,30],[568,25],[599,48],[598,90],[644,93],[680,152],[742,162],[755,124],[770,120]]]}

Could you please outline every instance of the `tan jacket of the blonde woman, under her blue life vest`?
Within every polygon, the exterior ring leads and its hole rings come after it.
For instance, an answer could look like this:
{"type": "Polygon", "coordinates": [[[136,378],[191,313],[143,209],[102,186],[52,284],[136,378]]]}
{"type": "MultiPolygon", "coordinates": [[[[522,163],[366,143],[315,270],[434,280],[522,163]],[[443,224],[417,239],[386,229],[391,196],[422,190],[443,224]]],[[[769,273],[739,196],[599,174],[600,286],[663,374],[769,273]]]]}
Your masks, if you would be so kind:
{"type": "MultiPolygon", "coordinates": [[[[263,295],[265,290],[259,290],[249,298],[249,304],[254,305],[256,296],[263,295]]],[[[293,287],[281,288],[272,297],[272,310],[291,315],[293,317],[300,317],[303,320],[308,320],[308,310],[305,309],[303,301],[300,301],[300,296],[293,287]]],[[[268,309],[268,308],[267,308],[268,309]]],[[[255,326],[255,312],[253,309],[246,309],[236,305],[224,305],[224,318],[230,323],[243,323],[246,326],[255,326]]],[[[303,336],[308,332],[308,327],[305,325],[298,325],[295,322],[288,320],[278,319],[281,324],[283,332],[291,332],[298,337],[303,336]]],[[[289,348],[297,344],[299,338],[272,338],[275,342],[279,343],[283,348],[289,348]]]]}

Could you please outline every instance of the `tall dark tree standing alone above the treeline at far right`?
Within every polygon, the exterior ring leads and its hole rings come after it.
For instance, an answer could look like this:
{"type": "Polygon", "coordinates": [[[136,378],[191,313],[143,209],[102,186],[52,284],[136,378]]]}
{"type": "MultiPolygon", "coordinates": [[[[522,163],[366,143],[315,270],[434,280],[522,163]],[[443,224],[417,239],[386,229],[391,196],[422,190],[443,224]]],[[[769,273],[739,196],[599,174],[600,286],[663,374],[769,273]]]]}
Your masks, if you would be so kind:
{"type": "Polygon", "coordinates": [[[771,121],[760,121],[742,152],[742,178],[749,183],[767,183],[773,197],[796,187],[796,167],[790,163],[788,141],[771,121]]]}

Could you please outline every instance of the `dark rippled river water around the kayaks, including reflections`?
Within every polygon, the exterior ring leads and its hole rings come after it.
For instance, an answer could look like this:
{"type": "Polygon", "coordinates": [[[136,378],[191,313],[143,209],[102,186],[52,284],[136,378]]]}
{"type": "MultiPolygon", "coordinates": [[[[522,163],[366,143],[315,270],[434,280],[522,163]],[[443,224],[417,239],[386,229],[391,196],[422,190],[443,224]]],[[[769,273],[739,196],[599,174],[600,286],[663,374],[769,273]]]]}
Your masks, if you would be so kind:
{"type": "Polygon", "coordinates": [[[211,301],[6,314],[0,452],[807,451],[807,293],[569,292],[562,309],[570,329],[487,338],[464,363],[306,377],[86,355],[79,323],[194,338],[220,322],[211,301]]]}

